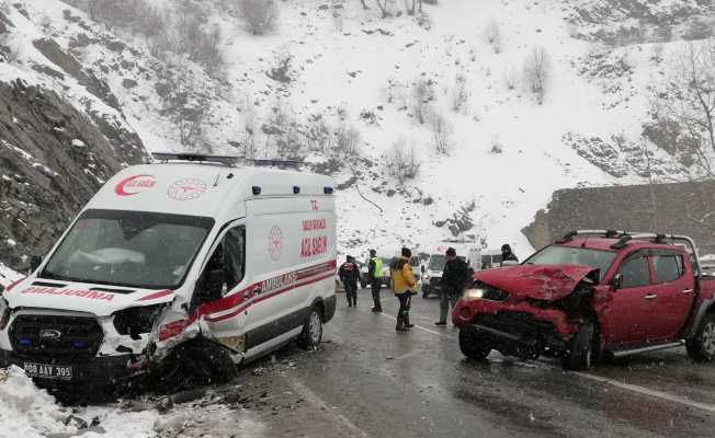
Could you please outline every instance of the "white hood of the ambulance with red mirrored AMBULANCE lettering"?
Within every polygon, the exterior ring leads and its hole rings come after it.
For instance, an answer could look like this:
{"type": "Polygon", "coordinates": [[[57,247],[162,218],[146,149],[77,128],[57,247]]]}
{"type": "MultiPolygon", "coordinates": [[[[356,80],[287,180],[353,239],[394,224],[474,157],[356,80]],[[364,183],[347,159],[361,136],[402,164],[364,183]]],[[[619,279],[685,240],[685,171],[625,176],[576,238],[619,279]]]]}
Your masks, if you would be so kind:
{"type": "Polygon", "coordinates": [[[12,290],[5,291],[2,297],[11,309],[67,310],[109,316],[128,308],[169,302],[175,296],[172,290],[168,289],[114,288],[66,281],[63,281],[61,285],[50,285],[52,283],[38,279],[25,279],[15,285],[12,290]],[[37,283],[42,283],[42,285],[37,285],[37,283]]]}

